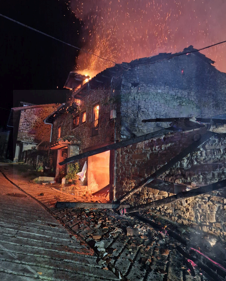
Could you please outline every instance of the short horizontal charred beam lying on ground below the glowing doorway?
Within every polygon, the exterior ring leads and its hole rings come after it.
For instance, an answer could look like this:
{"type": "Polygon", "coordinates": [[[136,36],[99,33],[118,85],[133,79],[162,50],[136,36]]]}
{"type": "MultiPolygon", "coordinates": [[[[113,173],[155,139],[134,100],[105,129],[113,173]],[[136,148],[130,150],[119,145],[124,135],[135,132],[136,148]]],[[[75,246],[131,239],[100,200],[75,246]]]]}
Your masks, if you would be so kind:
{"type": "Polygon", "coordinates": [[[56,208],[118,209],[129,208],[129,205],[120,205],[117,203],[56,202],[56,208]]]}

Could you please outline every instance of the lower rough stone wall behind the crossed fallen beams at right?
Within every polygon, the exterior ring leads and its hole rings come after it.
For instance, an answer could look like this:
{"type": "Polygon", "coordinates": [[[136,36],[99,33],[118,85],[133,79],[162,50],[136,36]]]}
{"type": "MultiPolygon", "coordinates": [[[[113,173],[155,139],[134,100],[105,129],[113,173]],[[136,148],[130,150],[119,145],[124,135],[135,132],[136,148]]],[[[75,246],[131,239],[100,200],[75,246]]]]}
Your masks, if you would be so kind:
{"type": "MultiPolygon", "coordinates": [[[[175,132],[162,138],[145,141],[117,150],[116,197],[137,185],[176,156],[192,141],[194,132],[175,132]]],[[[159,178],[172,183],[184,183],[191,188],[226,179],[226,138],[212,137],[198,151],[189,154],[159,178]]],[[[172,196],[174,190],[161,190],[148,185],[134,194],[130,205],[144,204],[172,196]]],[[[149,211],[203,232],[226,238],[226,189],[180,200],[149,211]]]]}

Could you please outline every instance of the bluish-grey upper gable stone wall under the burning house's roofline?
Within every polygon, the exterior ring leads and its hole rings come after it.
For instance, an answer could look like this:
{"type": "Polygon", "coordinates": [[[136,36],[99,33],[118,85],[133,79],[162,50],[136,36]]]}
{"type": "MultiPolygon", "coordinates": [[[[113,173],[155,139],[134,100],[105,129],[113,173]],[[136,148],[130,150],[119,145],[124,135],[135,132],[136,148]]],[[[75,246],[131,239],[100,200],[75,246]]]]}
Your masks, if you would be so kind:
{"type": "Polygon", "coordinates": [[[123,74],[121,137],[169,126],[142,119],[225,113],[226,74],[195,54],[137,66],[123,74]]]}

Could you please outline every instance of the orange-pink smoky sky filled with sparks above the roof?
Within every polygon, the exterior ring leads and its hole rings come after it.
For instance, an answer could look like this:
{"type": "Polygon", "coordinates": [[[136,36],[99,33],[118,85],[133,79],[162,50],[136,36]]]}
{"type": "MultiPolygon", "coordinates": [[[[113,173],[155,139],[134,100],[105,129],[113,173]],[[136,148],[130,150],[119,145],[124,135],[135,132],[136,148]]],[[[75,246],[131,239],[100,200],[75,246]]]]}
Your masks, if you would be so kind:
{"type": "MultiPolygon", "coordinates": [[[[117,63],[225,40],[223,0],[71,0],[66,5],[83,22],[85,49],[117,63]]],[[[225,51],[222,44],[203,53],[226,72],[225,51]]],[[[77,63],[89,73],[112,66],[87,54],[77,63]]]]}

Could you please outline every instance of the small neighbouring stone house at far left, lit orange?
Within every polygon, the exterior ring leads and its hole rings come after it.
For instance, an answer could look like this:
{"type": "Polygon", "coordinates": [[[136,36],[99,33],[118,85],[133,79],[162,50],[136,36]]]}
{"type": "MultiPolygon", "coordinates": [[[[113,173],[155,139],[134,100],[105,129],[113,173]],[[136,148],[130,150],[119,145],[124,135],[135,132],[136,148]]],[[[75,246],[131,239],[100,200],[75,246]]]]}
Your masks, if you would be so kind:
{"type": "Polygon", "coordinates": [[[48,154],[45,145],[50,141],[51,125],[45,124],[43,119],[57,108],[57,104],[20,102],[20,105],[11,109],[7,125],[12,128],[13,160],[27,162],[28,151],[46,151],[48,154]]]}

